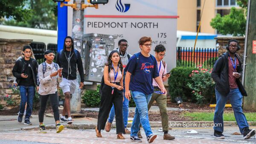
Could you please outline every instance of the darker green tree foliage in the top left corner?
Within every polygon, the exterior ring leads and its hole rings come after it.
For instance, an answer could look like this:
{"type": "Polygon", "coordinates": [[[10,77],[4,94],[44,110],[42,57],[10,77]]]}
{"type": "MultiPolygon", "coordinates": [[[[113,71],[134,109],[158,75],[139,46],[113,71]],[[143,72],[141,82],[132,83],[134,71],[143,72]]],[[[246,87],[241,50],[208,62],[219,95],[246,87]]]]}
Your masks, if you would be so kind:
{"type": "Polygon", "coordinates": [[[0,0],[0,18],[12,18],[18,22],[27,20],[31,10],[25,2],[26,0],[0,0]]]}

